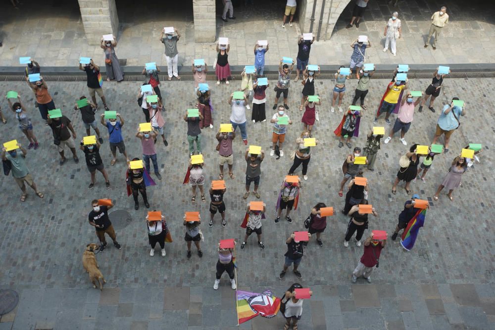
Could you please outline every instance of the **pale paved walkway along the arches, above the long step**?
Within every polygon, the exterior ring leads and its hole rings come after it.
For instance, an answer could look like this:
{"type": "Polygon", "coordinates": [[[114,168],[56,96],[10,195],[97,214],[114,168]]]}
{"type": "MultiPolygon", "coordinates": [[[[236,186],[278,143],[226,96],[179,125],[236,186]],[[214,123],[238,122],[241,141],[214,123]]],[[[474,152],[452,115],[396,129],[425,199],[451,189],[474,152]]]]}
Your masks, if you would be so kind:
{"type": "MultiPolygon", "coordinates": [[[[252,49],[260,39],[268,39],[270,43],[266,65],[278,65],[282,56],[297,56],[297,35],[301,31],[297,23],[293,28],[282,29],[285,1],[257,2],[261,3],[257,10],[236,7],[237,19],[227,23],[221,20],[221,8],[217,8],[217,37],[230,39],[231,65],[246,65],[254,61],[252,49]]],[[[348,45],[361,34],[368,35],[373,44],[366,51],[366,62],[388,64],[394,59],[397,63],[407,64],[493,63],[492,56],[487,54],[495,50],[492,42],[495,9],[483,1],[471,1],[468,5],[462,0],[441,3],[400,0],[397,7],[388,5],[385,0],[370,1],[359,29],[346,29],[353,3],[351,1],[344,10],[334,34],[326,41],[323,40],[323,24],[322,38],[311,49],[311,63],[348,63],[352,52],[348,45]],[[425,49],[423,45],[430,28],[430,17],[441,5],[447,6],[450,23],[443,29],[437,50],[425,49]],[[394,11],[399,12],[403,32],[403,38],[397,41],[396,57],[390,51],[382,51],[385,24],[394,11]]],[[[0,47],[0,66],[19,65],[19,56],[32,56],[42,66],[77,66],[80,56],[90,56],[96,63],[103,64],[102,49],[86,42],[77,1],[53,1],[49,5],[36,1],[29,4],[29,10],[24,10],[26,7],[15,10],[8,1],[0,5],[1,12],[5,13],[0,18],[0,36],[3,36],[0,39],[4,44],[0,47]],[[62,14],[53,17],[54,11],[62,14]],[[33,16],[34,12],[36,16],[33,16]]],[[[118,1],[117,7],[120,31],[116,53],[119,58],[127,59],[127,65],[141,66],[150,61],[166,65],[163,45],[158,41],[165,25],[175,26],[183,36],[178,46],[179,64],[185,66],[183,70],[190,71],[194,58],[205,58],[208,64],[213,64],[215,45],[195,43],[192,5],[157,7],[151,3],[138,5],[135,1],[118,1]],[[146,19],[143,13],[146,13],[146,19]]]]}

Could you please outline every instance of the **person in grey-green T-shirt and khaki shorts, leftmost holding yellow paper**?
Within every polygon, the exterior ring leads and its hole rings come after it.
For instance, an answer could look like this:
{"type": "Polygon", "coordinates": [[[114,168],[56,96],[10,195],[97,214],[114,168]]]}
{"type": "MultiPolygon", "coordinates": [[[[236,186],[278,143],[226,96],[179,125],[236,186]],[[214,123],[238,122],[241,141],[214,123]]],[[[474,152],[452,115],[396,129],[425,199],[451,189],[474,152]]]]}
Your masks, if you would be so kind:
{"type": "MultiPolygon", "coordinates": [[[[16,144],[17,148],[13,150],[7,151],[7,149],[3,146],[1,151],[1,159],[2,161],[10,162],[10,171],[12,172],[12,176],[14,177],[15,182],[19,186],[22,191],[21,202],[26,200],[28,193],[26,192],[27,183],[29,187],[31,187],[34,192],[38,195],[38,197],[43,198],[44,194],[41,191],[38,191],[38,187],[33,181],[33,177],[29,173],[29,170],[26,166],[26,154],[28,153],[26,149],[24,149],[20,143],[16,144]],[[21,153],[18,153],[19,149],[21,153]]],[[[8,174],[8,173],[7,173],[8,174]]]]}

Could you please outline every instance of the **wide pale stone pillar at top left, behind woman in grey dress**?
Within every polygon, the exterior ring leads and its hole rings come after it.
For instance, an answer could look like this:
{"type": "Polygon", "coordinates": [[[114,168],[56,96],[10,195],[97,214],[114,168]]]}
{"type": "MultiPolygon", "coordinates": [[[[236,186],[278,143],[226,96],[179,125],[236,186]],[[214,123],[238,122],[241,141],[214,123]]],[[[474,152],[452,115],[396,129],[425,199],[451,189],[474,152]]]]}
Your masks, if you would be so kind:
{"type": "Polygon", "coordinates": [[[115,0],[78,0],[89,45],[99,45],[101,36],[117,36],[119,17],[115,0]]]}

